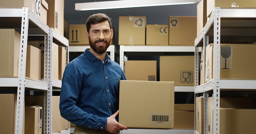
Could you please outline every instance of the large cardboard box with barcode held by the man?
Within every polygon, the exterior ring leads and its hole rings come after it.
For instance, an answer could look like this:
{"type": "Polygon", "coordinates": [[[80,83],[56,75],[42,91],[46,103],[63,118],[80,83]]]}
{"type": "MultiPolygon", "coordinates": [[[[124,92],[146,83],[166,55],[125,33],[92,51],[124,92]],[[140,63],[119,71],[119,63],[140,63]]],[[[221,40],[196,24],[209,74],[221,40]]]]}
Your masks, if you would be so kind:
{"type": "Polygon", "coordinates": [[[120,80],[119,88],[119,123],[128,128],[173,128],[174,82],[120,80]]]}

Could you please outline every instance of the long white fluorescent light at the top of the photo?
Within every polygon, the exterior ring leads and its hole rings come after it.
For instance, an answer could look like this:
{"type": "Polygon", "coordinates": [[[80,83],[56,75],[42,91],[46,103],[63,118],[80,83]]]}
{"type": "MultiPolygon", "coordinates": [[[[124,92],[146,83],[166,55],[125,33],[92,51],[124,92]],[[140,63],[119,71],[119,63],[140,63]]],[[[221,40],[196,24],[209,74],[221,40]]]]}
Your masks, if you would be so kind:
{"type": "Polygon", "coordinates": [[[100,9],[121,9],[144,6],[166,6],[175,4],[193,4],[200,0],[112,0],[102,2],[75,3],[76,11],[100,10],[100,9]]]}

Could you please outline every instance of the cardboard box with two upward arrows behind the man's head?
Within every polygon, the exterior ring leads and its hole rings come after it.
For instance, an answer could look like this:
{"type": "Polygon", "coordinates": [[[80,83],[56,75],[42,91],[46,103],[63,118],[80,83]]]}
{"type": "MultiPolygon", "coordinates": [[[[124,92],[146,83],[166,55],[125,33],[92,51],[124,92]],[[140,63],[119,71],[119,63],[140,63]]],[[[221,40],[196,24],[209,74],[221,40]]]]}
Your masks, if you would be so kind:
{"type": "MultiPolygon", "coordinates": [[[[113,31],[115,30],[112,27],[113,31]]],[[[86,25],[85,24],[76,24],[69,25],[69,45],[89,45],[89,40],[85,36],[86,25]]],[[[115,43],[115,34],[110,41],[110,45],[115,43]]]]}

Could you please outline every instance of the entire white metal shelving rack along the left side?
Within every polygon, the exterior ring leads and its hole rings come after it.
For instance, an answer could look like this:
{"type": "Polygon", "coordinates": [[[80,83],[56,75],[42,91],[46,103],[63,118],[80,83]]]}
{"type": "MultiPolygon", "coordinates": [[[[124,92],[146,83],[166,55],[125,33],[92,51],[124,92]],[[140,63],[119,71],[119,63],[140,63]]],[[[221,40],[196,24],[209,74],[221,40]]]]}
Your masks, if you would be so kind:
{"type": "MultiPolygon", "coordinates": [[[[44,126],[43,134],[52,133],[52,87],[61,88],[60,80],[52,80],[52,42],[67,48],[67,62],[69,61],[68,40],[49,28],[39,17],[27,7],[23,8],[0,8],[0,27],[15,28],[20,32],[20,58],[18,77],[0,77],[1,87],[17,87],[16,126],[15,134],[22,133],[23,111],[25,100],[25,88],[33,91],[43,91],[44,94],[44,126]],[[11,22],[11,23],[10,23],[11,22]],[[40,37],[45,42],[44,78],[33,80],[25,77],[27,61],[28,37],[40,37]],[[41,38],[43,37],[43,38],[41,38]]],[[[26,90],[27,90],[26,89],[26,90]]],[[[67,133],[60,132],[60,133],[67,133]]],[[[69,133],[69,130],[68,130],[69,133]]]]}

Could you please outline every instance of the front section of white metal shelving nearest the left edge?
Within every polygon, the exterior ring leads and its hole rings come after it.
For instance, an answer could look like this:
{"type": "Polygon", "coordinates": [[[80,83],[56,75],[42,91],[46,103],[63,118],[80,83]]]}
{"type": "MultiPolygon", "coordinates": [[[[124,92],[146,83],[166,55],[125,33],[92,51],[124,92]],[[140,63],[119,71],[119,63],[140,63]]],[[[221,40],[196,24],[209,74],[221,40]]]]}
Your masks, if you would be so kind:
{"type": "MultiPolygon", "coordinates": [[[[0,9],[0,19],[1,19],[1,27],[3,28],[16,28],[20,30],[20,58],[19,58],[19,67],[18,67],[18,78],[1,78],[0,86],[13,86],[17,87],[17,105],[16,105],[16,125],[15,125],[15,133],[22,133],[23,126],[23,111],[24,111],[24,100],[25,100],[25,88],[32,88],[36,90],[44,91],[44,102],[45,102],[45,119],[43,120],[47,125],[44,126],[43,132],[49,133],[48,131],[48,121],[49,121],[49,83],[47,82],[49,76],[45,76],[43,81],[39,80],[31,80],[25,77],[26,70],[26,61],[27,61],[27,40],[29,34],[37,34],[44,36],[45,47],[49,48],[48,42],[48,33],[49,27],[44,24],[39,17],[37,17],[34,13],[29,11],[27,7],[23,8],[1,8],[0,9]],[[9,20],[13,19],[13,23],[9,23],[9,20]],[[16,21],[18,20],[18,21],[16,21]],[[35,30],[31,30],[30,28],[36,29],[36,33],[33,33],[35,30]],[[14,83],[15,82],[15,83],[14,83]]],[[[48,51],[47,51],[48,52],[48,51]]],[[[47,53],[46,53],[47,54],[47,53]]],[[[49,70],[49,69],[46,69],[49,70]]],[[[48,73],[46,73],[48,74],[48,73]]]]}

